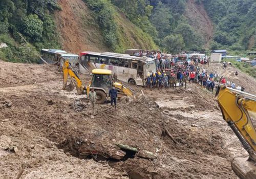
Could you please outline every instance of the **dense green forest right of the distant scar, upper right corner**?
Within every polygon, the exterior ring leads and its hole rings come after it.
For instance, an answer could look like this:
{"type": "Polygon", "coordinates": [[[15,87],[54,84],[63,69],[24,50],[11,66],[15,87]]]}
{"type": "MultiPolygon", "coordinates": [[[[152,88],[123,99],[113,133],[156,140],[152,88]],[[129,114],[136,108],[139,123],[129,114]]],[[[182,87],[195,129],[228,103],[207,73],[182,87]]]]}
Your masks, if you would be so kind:
{"type": "MultiPolygon", "coordinates": [[[[200,0],[198,0],[200,1],[200,0]]],[[[202,0],[216,25],[212,49],[256,49],[256,2],[254,0],[202,0]]]]}

